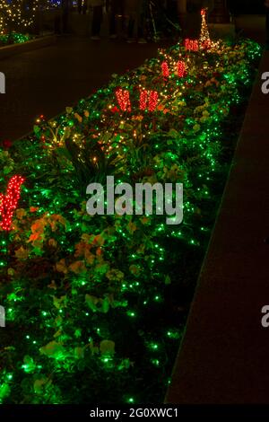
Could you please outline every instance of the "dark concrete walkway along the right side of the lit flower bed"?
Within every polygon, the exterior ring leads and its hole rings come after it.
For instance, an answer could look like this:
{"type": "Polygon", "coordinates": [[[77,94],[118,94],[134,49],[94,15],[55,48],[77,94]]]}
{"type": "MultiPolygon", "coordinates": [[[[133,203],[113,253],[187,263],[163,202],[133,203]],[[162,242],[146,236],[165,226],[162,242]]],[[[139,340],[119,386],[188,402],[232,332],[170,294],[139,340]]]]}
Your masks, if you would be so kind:
{"type": "Polygon", "coordinates": [[[167,401],[269,403],[269,95],[261,74],[204,262],[167,401]],[[267,239],[267,242],[265,242],[267,239]]]}

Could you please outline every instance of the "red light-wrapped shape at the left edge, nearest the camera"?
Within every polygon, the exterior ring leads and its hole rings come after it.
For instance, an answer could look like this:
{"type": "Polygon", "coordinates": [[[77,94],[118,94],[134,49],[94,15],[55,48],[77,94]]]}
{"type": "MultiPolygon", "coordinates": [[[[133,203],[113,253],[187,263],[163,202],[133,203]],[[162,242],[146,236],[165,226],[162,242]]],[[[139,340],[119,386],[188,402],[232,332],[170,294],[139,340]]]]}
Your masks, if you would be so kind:
{"type": "Polygon", "coordinates": [[[0,215],[2,215],[0,226],[7,232],[12,230],[13,213],[21,197],[21,186],[23,182],[24,179],[22,176],[13,176],[9,180],[6,195],[0,193],[0,215]]]}

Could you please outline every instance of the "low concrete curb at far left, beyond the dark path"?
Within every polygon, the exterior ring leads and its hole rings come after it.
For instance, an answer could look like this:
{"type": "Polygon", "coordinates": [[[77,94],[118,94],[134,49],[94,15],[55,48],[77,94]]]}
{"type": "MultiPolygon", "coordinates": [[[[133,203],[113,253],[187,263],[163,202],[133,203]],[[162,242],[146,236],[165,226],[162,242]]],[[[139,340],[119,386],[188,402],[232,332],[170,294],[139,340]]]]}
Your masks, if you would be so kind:
{"type": "Polygon", "coordinates": [[[30,40],[22,44],[13,44],[12,46],[4,46],[0,48],[0,60],[11,57],[15,54],[25,53],[37,48],[47,47],[56,43],[56,35],[49,35],[37,40],[30,40]]]}

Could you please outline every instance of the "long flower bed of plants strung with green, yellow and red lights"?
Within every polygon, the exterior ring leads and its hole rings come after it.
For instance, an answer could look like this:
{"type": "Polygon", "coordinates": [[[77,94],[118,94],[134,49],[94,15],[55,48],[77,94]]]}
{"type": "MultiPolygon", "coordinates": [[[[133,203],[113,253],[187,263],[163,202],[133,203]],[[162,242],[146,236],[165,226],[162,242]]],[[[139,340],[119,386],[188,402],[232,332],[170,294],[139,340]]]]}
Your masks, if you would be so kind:
{"type": "Polygon", "coordinates": [[[0,232],[3,403],[163,400],[260,55],[202,41],[4,144],[0,191],[25,180],[0,232]],[[86,187],[108,175],[183,183],[183,223],[88,215],[86,187]]]}

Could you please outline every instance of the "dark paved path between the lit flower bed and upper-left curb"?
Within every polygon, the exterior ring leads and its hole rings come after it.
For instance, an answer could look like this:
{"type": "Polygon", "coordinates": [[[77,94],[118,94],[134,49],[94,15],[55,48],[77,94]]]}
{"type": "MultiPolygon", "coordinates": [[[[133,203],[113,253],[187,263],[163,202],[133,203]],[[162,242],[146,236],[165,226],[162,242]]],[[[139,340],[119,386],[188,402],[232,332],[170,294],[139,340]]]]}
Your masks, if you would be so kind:
{"type": "Polygon", "coordinates": [[[60,38],[56,45],[0,60],[6,94],[0,95],[0,141],[28,133],[39,114],[56,116],[107,84],[113,73],[156,56],[157,44],[60,38]]]}

